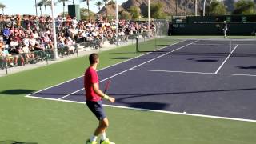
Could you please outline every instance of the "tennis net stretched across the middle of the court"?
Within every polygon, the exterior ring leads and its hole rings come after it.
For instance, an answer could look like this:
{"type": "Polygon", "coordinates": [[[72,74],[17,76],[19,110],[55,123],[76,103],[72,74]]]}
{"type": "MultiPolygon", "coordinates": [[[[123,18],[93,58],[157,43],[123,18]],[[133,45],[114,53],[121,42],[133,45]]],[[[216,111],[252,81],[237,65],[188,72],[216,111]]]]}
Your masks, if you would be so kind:
{"type": "MultiPolygon", "coordinates": [[[[243,56],[256,56],[256,39],[234,39],[234,38],[158,38],[156,46],[163,46],[168,42],[180,42],[178,45],[185,45],[182,42],[186,40],[190,45],[180,50],[174,51],[174,54],[204,54],[204,55],[222,55],[236,54],[243,56]]],[[[172,50],[172,49],[170,49],[172,50]]]]}

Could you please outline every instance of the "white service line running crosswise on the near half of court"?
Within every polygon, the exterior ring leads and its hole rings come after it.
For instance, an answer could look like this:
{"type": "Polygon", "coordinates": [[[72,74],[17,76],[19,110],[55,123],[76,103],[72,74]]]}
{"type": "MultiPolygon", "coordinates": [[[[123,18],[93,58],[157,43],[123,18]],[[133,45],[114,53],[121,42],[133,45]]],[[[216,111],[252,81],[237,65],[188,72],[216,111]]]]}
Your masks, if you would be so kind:
{"type": "Polygon", "coordinates": [[[214,74],[214,75],[231,75],[231,76],[247,76],[247,77],[256,77],[256,75],[252,74],[222,74],[222,73],[204,73],[197,71],[171,71],[171,70],[142,70],[142,69],[132,69],[134,71],[150,71],[150,72],[165,72],[165,73],[182,73],[182,74],[214,74]]]}

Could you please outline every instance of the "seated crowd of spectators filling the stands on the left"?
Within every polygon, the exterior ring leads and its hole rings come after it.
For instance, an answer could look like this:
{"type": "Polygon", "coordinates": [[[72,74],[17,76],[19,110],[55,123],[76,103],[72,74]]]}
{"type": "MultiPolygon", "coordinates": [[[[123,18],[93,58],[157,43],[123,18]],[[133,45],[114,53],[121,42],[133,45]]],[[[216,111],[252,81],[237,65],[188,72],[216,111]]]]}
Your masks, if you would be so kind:
{"type": "MultiPolygon", "coordinates": [[[[0,15],[0,61],[5,58],[8,66],[24,66],[42,59],[42,51],[54,51],[52,18],[33,15],[0,15]],[[18,63],[19,62],[19,63],[18,63]]],[[[55,19],[58,50],[74,54],[74,44],[80,42],[98,42],[104,40],[114,43],[116,38],[115,21],[98,18],[91,21],[78,21],[77,18],[61,16],[55,19]]],[[[124,41],[131,34],[148,31],[146,22],[128,22],[120,20],[119,36],[124,41]]],[[[154,29],[154,25],[151,25],[154,29]]],[[[50,53],[50,57],[51,57],[50,53]]]]}

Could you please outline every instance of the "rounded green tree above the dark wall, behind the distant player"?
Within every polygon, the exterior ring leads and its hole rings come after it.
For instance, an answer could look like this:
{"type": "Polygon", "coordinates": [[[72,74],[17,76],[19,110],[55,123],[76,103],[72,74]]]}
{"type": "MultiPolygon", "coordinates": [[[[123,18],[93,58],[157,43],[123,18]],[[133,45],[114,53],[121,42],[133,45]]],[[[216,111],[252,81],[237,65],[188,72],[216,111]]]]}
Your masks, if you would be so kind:
{"type": "Polygon", "coordinates": [[[211,15],[225,15],[227,13],[226,6],[223,2],[218,2],[217,0],[214,0],[211,3],[211,15]]]}

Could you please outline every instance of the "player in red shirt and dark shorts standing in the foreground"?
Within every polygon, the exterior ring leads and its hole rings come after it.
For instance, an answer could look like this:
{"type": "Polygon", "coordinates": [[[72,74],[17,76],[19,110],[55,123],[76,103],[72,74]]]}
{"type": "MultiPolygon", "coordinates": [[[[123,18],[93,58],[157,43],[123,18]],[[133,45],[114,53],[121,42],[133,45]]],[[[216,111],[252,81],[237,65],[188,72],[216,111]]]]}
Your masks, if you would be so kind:
{"type": "Polygon", "coordinates": [[[110,142],[109,138],[106,138],[106,128],[109,126],[109,121],[106,118],[105,111],[102,106],[102,99],[106,99],[110,102],[114,102],[115,99],[104,94],[99,89],[97,66],[99,63],[98,54],[90,54],[89,56],[90,66],[87,68],[84,76],[84,86],[86,90],[86,104],[90,111],[98,118],[99,125],[94,131],[94,134],[90,139],[86,141],[86,144],[97,144],[98,135],[102,134],[101,144],[114,144],[110,142]]]}

